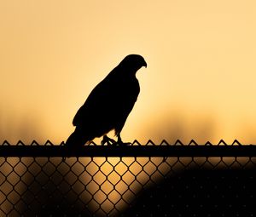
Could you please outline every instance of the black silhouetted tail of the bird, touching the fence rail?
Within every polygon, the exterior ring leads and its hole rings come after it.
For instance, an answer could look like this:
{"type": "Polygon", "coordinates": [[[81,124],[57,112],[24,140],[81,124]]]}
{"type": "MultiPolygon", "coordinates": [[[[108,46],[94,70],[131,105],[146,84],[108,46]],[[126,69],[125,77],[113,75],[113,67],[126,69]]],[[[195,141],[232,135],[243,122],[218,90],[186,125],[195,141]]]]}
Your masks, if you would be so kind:
{"type": "Polygon", "coordinates": [[[67,146],[68,148],[77,148],[80,146],[84,146],[84,144],[88,141],[88,136],[86,136],[85,134],[83,134],[80,130],[78,130],[77,128],[75,129],[75,131],[73,132],[73,134],[71,134],[66,141],[65,146],[67,146]]]}

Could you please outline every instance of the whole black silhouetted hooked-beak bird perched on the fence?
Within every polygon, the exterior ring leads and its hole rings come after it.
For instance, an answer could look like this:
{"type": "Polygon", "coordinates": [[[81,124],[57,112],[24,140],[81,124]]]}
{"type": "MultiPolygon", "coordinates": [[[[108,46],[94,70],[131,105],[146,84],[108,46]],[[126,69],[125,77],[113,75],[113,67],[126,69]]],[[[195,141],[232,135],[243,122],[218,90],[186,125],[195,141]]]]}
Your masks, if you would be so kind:
{"type": "Polygon", "coordinates": [[[137,101],[140,86],[136,72],[142,66],[147,67],[147,63],[141,55],[128,55],[96,85],[73,118],[73,125],[76,128],[68,137],[66,146],[83,146],[102,135],[102,144],[110,144],[110,141],[115,143],[115,140],[107,136],[112,129],[118,137],[117,143],[124,144],[120,132],[137,101]]]}

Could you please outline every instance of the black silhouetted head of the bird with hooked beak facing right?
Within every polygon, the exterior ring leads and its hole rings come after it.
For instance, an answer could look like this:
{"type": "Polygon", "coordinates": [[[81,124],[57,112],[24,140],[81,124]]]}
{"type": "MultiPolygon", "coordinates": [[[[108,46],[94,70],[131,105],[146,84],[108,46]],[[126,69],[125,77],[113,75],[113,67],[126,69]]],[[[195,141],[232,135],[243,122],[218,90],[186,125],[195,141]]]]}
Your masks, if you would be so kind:
{"type": "Polygon", "coordinates": [[[126,69],[131,71],[138,71],[141,67],[147,67],[147,63],[144,60],[143,56],[138,54],[130,54],[125,57],[119,64],[119,66],[123,66],[126,69]]]}

